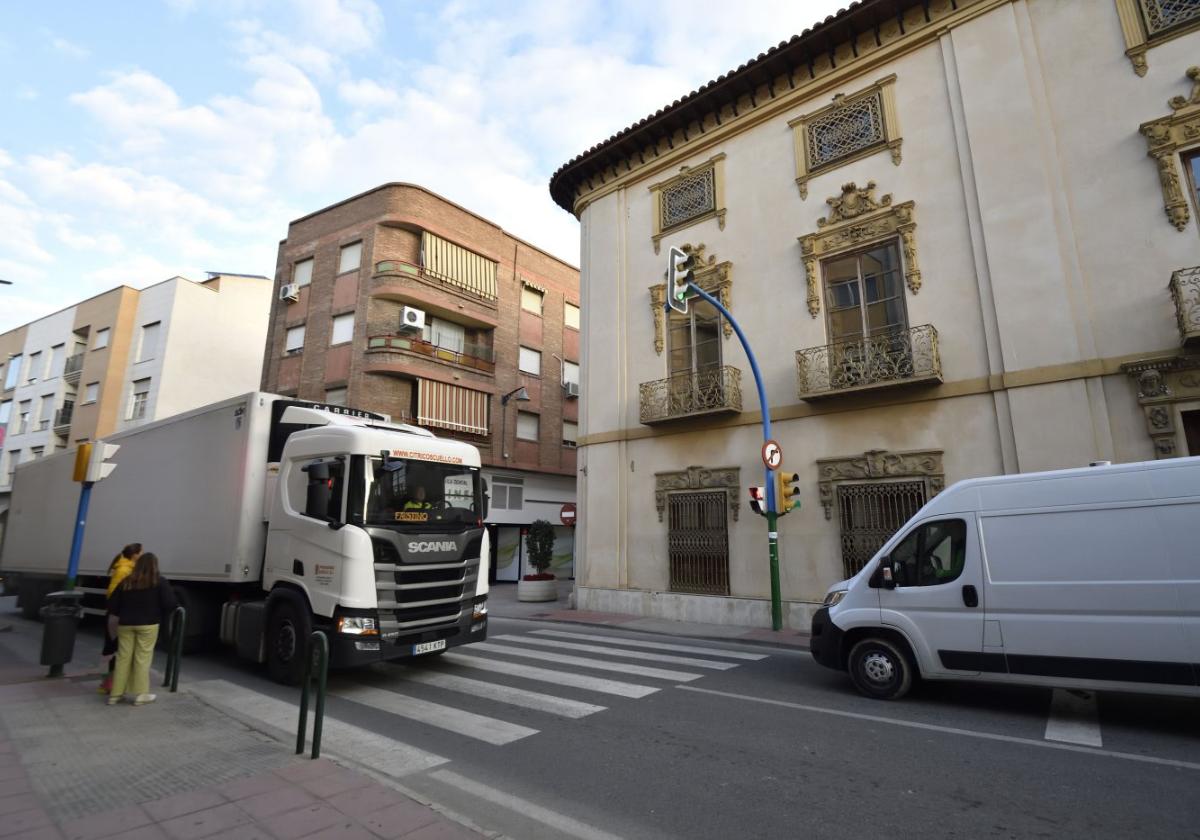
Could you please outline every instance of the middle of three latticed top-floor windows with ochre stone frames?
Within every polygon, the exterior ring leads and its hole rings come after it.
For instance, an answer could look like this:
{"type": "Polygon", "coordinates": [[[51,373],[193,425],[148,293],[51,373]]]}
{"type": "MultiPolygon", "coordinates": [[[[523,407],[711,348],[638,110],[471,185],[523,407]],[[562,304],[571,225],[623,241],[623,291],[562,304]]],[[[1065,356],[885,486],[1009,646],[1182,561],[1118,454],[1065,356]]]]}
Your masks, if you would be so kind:
{"type": "Polygon", "coordinates": [[[883,149],[890,150],[892,162],[900,166],[895,80],[895,76],[888,76],[850,96],[838,94],[832,104],[787,124],[796,145],[800,198],[808,198],[814,175],[883,149]]]}

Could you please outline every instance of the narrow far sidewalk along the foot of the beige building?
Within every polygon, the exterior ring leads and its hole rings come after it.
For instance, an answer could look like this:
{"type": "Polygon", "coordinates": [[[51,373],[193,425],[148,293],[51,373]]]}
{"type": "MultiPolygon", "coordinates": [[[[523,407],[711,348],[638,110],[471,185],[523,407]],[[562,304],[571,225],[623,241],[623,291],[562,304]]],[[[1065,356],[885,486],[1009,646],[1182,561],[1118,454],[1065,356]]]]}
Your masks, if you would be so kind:
{"type": "Polygon", "coordinates": [[[558,581],[558,600],[522,602],[517,600],[516,583],[494,583],[488,589],[487,610],[496,618],[521,618],[534,622],[566,622],[596,626],[619,626],[622,630],[638,630],[666,636],[688,636],[720,642],[745,644],[772,644],[776,647],[809,649],[809,634],[799,630],[768,630],[744,628],[733,624],[701,624],[698,622],[674,622],[667,618],[643,618],[614,612],[592,612],[571,608],[575,581],[558,581]]]}

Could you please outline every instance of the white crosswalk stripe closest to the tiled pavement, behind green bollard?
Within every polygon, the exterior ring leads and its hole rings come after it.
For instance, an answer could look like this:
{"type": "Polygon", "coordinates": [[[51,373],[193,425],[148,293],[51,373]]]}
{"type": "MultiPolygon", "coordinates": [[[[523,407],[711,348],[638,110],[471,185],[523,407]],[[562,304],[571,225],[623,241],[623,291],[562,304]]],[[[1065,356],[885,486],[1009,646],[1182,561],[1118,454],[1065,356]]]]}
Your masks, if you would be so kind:
{"type": "MultiPolygon", "coordinates": [[[[214,706],[233,710],[241,718],[290,732],[295,737],[300,714],[295,703],[286,703],[282,700],[234,685],[223,679],[192,683],[187,690],[214,706]]],[[[311,721],[314,715],[310,714],[308,718],[311,721]]],[[[312,722],[308,726],[311,727],[312,722]]],[[[322,749],[353,758],[390,776],[421,773],[450,761],[439,755],[409,746],[403,742],[385,738],[378,732],[371,732],[328,716],[322,734],[322,749]]]]}

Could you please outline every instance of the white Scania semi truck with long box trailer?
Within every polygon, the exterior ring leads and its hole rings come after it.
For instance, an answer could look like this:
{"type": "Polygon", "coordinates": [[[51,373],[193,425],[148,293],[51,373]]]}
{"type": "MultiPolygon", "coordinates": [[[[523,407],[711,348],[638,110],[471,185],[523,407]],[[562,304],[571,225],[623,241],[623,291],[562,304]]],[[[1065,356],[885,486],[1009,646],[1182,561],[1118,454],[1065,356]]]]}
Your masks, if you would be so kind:
{"type": "MultiPolygon", "coordinates": [[[[416,426],[252,392],[106,439],[79,562],[88,611],[128,542],[160,558],[186,643],[220,638],[302,677],[312,630],[330,664],[431,654],[487,636],[487,488],[479,451],[416,426]]],[[[36,614],[61,588],[79,498],[74,454],[22,464],[0,548],[36,614]]]]}

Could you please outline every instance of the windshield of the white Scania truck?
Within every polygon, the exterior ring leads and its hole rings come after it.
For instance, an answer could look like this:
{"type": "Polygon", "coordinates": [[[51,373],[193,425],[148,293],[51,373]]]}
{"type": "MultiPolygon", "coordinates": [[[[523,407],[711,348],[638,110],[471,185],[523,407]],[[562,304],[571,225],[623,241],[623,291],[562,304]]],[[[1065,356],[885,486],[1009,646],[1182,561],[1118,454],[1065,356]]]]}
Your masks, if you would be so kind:
{"type": "Polygon", "coordinates": [[[368,526],[476,524],[476,467],[403,458],[367,460],[368,526]]]}

